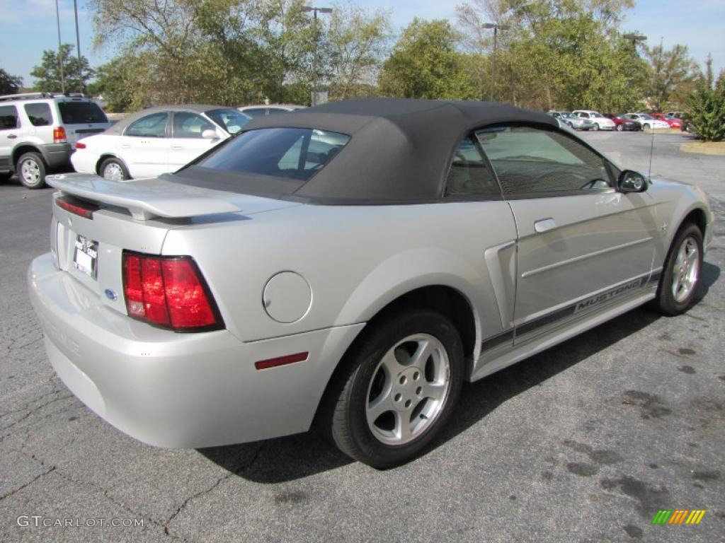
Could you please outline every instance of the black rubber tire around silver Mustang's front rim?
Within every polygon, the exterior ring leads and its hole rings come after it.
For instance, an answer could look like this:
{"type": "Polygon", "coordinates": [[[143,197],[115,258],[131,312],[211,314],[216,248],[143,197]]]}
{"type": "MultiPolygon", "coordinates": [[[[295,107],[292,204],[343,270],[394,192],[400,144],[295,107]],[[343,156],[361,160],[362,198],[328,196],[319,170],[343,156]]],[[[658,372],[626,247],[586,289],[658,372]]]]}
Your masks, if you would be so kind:
{"type": "MultiPolygon", "coordinates": [[[[691,245],[692,246],[692,245],[691,245]]],[[[687,269],[692,270],[690,264],[687,269]]],[[[683,224],[674,237],[672,245],[667,253],[665,266],[660,277],[660,283],[657,287],[657,298],[654,300],[654,307],[663,315],[675,316],[687,311],[693,303],[695,303],[695,294],[697,292],[697,284],[700,282],[700,274],[703,269],[703,233],[692,223],[683,224]],[[680,273],[678,255],[683,245],[691,240],[697,248],[697,258],[693,264],[697,266],[694,271],[694,280],[692,287],[683,298],[676,298],[675,295],[675,274],[680,273]]],[[[681,276],[682,277],[682,276],[681,276]]]]}

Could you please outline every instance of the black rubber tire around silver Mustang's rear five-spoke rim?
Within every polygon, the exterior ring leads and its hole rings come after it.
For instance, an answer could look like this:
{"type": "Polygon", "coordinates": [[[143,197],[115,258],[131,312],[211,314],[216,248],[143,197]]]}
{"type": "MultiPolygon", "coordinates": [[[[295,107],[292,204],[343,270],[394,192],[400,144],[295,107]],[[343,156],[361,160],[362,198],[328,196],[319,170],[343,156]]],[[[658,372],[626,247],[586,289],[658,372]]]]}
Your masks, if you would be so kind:
{"type": "MultiPolygon", "coordinates": [[[[385,469],[399,466],[416,458],[431,445],[431,442],[446,425],[460,396],[463,384],[465,367],[463,345],[452,322],[441,313],[427,308],[404,306],[400,311],[388,313],[380,320],[373,321],[369,327],[347,353],[342,361],[344,366],[341,366],[336,381],[331,384],[332,389],[328,394],[326,405],[323,406],[323,431],[346,455],[373,468],[385,469]],[[404,396],[400,397],[397,390],[402,390],[404,386],[416,387],[418,384],[427,384],[429,364],[436,364],[437,360],[437,363],[441,365],[442,355],[436,357],[426,355],[422,364],[423,369],[421,369],[420,379],[423,379],[422,381],[413,382],[412,380],[413,378],[419,379],[416,376],[417,370],[420,369],[419,366],[402,364],[401,367],[404,367],[405,371],[395,375],[386,373],[382,367],[383,357],[386,353],[392,352],[397,344],[416,334],[417,337],[423,338],[422,341],[425,341],[426,337],[437,340],[439,343],[436,345],[441,345],[447,355],[449,362],[447,392],[437,404],[436,400],[421,396],[421,387],[418,387],[415,392],[409,393],[413,395],[415,403],[411,403],[410,399],[405,396],[405,392],[404,396]],[[407,424],[407,428],[411,432],[410,441],[400,445],[383,442],[380,437],[373,434],[373,428],[368,424],[368,403],[381,372],[383,379],[389,376],[391,386],[384,388],[389,392],[379,392],[379,394],[389,397],[390,405],[395,407],[395,410],[391,409],[378,416],[372,426],[377,432],[384,432],[378,429],[376,422],[388,415],[392,419],[393,425],[396,424],[395,421],[399,422],[398,427],[407,424]],[[408,376],[410,380],[404,385],[405,379],[403,378],[408,373],[410,373],[408,376]],[[434,409],[438,411],[435,411],[434,414],[432,411],[426,411],[426,408],[430,406],[435,406],[434,409]],[[418,411],[419,408],[421,411],[418,411]],[[431,413],[431,418],[425,416],[423,411],[431,413]],[[404,422],[406,420],[407,423],[404,422]],[[415,436],[415,432],[420,433],[415,436]]],[[[398,353],[402,353],[402,356],[408,354],[405,348],[409,344],[415,345],[415,341],[398,345],[394,351],[394,358],[399,360],[398,353]]],[[[410,355],[410,360],[412,359],[413,356],[410,355]]],[[[376,397],[373,397],[373,400],[376,400],[376,397]]]]}

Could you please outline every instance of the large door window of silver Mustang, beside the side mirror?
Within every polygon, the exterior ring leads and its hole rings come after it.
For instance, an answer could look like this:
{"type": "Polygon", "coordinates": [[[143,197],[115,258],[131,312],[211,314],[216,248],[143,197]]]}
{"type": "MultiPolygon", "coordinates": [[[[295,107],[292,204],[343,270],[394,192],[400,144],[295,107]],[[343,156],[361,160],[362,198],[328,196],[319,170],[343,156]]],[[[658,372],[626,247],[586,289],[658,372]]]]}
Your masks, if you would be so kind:
{"type": "Polygon", "coordinates": [[[572,193],[613,186],[605,160],[555,130],[525,126],[476,132],[504,195],[572,193]]]}

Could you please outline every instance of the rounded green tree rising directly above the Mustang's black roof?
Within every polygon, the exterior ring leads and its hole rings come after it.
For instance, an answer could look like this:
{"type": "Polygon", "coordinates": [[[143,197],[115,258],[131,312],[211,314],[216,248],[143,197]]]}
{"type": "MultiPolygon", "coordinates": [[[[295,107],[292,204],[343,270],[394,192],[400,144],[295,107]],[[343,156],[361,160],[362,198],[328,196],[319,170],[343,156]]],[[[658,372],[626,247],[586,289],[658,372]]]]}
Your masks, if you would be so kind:
{"type": "Polygon", "coordinates": [[[385,96],[470,99],[479,96],[449,22],[415,18],[384,62],[378,85],[385,96]]]}

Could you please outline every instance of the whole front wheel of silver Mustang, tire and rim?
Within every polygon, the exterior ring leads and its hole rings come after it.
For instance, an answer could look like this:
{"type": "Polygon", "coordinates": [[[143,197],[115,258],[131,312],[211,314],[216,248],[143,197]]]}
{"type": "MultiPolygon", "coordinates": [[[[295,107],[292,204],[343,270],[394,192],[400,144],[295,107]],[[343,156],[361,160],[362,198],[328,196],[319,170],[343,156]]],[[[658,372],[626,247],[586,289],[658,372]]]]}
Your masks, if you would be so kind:
{"type": "Polygon", "coordinates": [[[668,252],[655,308],[668,316],[687,311],[695,302],[702,267],[703,233],[695,224],[685,224],[677,232],[668,252]]]}

